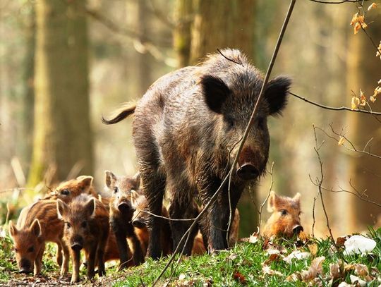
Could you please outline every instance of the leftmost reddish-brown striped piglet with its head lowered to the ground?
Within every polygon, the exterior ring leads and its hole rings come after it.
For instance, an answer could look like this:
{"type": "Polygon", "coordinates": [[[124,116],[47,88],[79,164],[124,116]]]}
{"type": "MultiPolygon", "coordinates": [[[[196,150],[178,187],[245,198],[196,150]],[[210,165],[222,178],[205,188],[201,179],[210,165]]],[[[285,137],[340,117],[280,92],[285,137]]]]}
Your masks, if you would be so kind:
{"type": "Polygon", "coordinates": [[[61,276],[68,271],[69,250],[62,239],[63,222],[57,216],[55,200],[40,200],[25,207],[17,226],[9,222],[9,234],[21,273],[31,272],[34,266],[34,274],[40,274],[46,242],[59,246],[57,262],[61,265],[61,276]]]}

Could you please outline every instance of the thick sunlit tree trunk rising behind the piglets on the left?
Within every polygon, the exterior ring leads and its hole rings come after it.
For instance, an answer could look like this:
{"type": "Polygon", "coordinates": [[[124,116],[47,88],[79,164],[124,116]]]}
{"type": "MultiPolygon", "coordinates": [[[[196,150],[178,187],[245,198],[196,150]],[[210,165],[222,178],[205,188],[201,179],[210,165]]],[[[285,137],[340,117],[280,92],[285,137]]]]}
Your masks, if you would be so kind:
{"type": "Polygon", "coordinates": [[[29,184],[92,174],[85,1],[35,2],[35,135],[29,184]],[[76,171],[76,172],[75,172],[76,171]]]}

